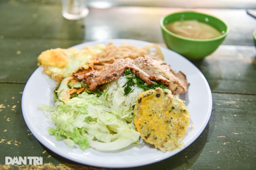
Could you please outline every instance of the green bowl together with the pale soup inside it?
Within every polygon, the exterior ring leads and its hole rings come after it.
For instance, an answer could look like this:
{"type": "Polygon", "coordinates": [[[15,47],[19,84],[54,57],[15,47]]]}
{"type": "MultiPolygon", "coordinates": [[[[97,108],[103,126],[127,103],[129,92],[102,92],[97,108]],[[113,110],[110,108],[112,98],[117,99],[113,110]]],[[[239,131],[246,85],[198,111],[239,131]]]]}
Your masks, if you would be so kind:
{"type": "Polygon", "coordinates": [[[212,54],[229,33],[223,20],[194,11],[168,14],[160,26],[166,46],[189,60],[212,54]]]}

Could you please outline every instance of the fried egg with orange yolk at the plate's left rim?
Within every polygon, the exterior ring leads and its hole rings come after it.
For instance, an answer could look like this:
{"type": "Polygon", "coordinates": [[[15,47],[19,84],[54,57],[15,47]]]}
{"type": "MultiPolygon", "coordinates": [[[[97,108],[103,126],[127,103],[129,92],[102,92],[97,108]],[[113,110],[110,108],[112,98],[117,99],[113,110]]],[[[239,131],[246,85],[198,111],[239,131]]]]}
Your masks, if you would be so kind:
{"type": "Polygon", "coordinates": [[[73,72],[77,72],[79,69],[88,69],[94,63],[98,63],[97,58],[104,49],[105,45],[103,44],[87,46],[81,50],[75,48],[49,49],[38,56],[38,66],[43,66],[44,73],[53,80],[61,81],[63,78],[72,76],[73,72]]]}

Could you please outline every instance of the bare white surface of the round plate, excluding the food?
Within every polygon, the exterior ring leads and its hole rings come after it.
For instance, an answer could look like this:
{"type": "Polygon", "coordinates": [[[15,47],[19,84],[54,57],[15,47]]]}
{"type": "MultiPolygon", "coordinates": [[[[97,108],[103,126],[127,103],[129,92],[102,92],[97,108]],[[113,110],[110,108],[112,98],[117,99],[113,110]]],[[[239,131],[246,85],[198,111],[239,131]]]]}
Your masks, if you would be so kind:
{"type": "MultiPolygon", "coordinates": [[[[113,42],[118,46],[126,42],[129,45],[139,47],[151,44],[140,40],[111,39],[82,43],[74,47],[81,49],[83,46],[99,43],[107,45],[109,42],[113,42]]],[[[83,152],[80,148],[69,148],[63,141],[56,141],[55,136],[50,136],[47,133],[47,127],[54,127],[52,122],[46,118],[42,110],[37,108],[38,104],[54,106],[53,90],[56,86],[55,81],[42,73],[43,69],[41,67],[35,70],[29,78],[22,96],[23,116],[29,130],[39,142],[56,154],[77,163],[96,167],[127,168],[143,166],[165,160],[182,151],[194,142],[206,127],[212,112],[212,94],[206,79],[197,67],[186,58],[169,49],[161,47],[161,50],[165,61],[171,65],[172,69],[176,72],[183,72],[190,83],[187,92],[181,94],[180,98],[186,101],[185,104],[191,116],[190,124],[193,124],[195,128],[188,128],[183,139],[184,145],[182,149],[176,149],[172,152],[161,152],[141,142],[139,145],[131,145],[121,151],[99,152],[89,148],[83,152]]]]}

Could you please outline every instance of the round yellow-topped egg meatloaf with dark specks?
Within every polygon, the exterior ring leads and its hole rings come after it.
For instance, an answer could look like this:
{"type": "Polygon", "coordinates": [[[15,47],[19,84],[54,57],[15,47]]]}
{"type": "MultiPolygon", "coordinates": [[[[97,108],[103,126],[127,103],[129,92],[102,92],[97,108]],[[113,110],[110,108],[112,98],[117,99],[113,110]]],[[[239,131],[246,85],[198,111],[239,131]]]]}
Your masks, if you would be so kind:
{"type": "Polygon", "coordinates": [[[180,148],[189,125],[184,101],[161,88],[142,92],[134,107],[134,124],[145,142],[161,151],[180,148]]]}

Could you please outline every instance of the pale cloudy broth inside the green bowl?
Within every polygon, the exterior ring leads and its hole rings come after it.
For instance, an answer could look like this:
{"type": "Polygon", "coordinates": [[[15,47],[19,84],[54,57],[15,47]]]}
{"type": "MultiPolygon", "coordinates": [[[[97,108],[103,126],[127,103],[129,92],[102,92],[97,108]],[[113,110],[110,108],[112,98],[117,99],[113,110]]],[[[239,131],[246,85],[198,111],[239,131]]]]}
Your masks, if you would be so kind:
{"type": "Polygon", "coordinates": [[[222,35],[212,26],[197,20],[175,21],[165,24],[165,27],[174,34],[190,39],[212,39],[222,35]]]}

